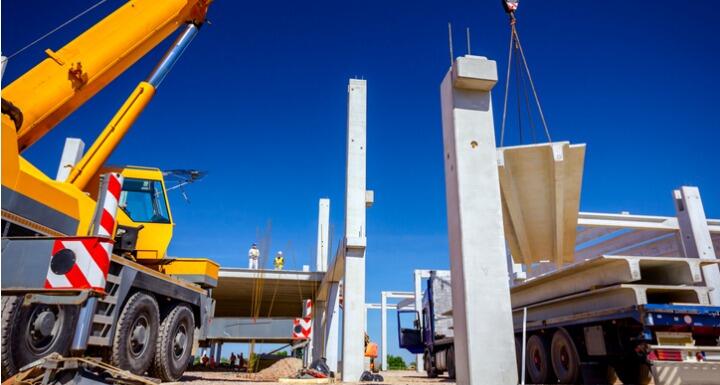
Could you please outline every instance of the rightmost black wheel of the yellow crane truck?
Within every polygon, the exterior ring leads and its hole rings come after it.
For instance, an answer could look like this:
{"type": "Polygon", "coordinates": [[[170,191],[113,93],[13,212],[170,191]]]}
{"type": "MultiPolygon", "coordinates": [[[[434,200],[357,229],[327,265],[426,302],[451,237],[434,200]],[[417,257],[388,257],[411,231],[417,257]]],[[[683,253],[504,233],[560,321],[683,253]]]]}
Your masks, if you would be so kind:
{"type": "Polygon", "coordinates": [[[163,382],[178,381],[188,365],[195,331],[195,317],[185,305],[175,307],[165,317],[155,345],[151,373],[163,382]]]}

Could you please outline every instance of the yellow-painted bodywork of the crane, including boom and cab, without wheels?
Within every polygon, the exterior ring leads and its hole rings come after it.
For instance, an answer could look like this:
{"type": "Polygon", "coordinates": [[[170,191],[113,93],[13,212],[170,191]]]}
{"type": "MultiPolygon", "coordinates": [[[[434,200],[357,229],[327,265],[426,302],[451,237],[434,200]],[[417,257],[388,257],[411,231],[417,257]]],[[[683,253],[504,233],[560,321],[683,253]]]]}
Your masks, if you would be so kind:
{"type": "MultiPolygon", "coordinates": [[[[129,211],[128,207],[123,207],[128,202],[121,199],[118,226],[142,227],[134,257],[141,263],[167,259],[174,224],[162,172],[131,166],[103,168],[152,99],[155,93],[152,84],[140,82],[94,144],[73,166],[66,181],[48,177],[21,153],[180,25],[201,24],[209,3],[210,0],[128,1],[57,52],[47,50],[49,58],[3,88],[4,236],[87,235],[95,214],[99,175],[112,169],[128,181],[123,186],[123,195],[135,197],[138,207],[142,206],[142,199],[162,206],[155,207],[162,208],[157,217],[138,217],[137,207],[135,212],[129,211]],[[18,114],[5,113],[6,105],[18,114]],[[130,191],[133,188],[137,191],[130,191]],[[143,189],[150,189],[156,195],[153,199],[140,198],[143,189]]],[[[163,270],[162,263],[147,265],[163,270]]],[[[174,268],[187,270],[181,265],[178,263],[174,268]]],[[[217,280],[217,265],[211,261],[188,266],[194,266],[197,275],[211,273],[214,274],[211,278],[217,280]]]]}

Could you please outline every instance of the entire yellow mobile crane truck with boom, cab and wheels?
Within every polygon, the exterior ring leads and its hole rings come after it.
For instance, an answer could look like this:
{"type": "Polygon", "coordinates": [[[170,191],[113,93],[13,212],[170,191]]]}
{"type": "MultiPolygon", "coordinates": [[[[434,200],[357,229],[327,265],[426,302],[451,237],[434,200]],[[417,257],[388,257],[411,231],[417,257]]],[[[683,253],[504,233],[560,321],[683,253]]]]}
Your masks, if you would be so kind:
{"type": "MultiPolygon", "coordinates": [[[[2,376],[58,352],[103,357],[165,381],[203,344],[218,265],[168,258],[172,237],[163,174],[104,164],[205,21],[210,0],[131,0],[2,90],[2,376]],[[22,152],[177,29],[179,36],[64,181],[22,152]],[[105,288],[49,289],[79,263],[56,241],[93,235],[100,175],[124,177],[105,288]],[[55,247],[55,248],[54,248],[55,247]],[[58,269],[62,270],[59,271],[58,269]],[[65,269],[65,270],[63,270],[65,269]],[[181,278],[181,279],[178,279],[181,278]]],[[[107,184],[107,183],[106,183],[107,184]]],[[[100,211],[97,211],[100,213],[100,211]]],[[[77,258],[77,260],[76,260],[77,258]]],[[[69,274],[69,273],[68,273],[69,274]]]]}

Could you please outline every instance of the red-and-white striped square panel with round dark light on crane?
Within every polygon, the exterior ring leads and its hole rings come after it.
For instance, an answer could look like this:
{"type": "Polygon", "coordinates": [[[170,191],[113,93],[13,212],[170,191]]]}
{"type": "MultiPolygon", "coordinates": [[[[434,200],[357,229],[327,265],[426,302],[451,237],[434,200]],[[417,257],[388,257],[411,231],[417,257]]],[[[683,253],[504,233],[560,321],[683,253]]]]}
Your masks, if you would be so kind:
{"type": "Polygon", "coordinates": [[[113,241],[107,238],[78,237],[56,240],[45,277],[45,288],[105,291],[112,247],[113,241]],[[60,258],[61,251],[65,253],[63,257],[71,255],[73,259],[69,264],[65,261],[65,267],[61,271],[53,271],[52,260],[60,258]]]}

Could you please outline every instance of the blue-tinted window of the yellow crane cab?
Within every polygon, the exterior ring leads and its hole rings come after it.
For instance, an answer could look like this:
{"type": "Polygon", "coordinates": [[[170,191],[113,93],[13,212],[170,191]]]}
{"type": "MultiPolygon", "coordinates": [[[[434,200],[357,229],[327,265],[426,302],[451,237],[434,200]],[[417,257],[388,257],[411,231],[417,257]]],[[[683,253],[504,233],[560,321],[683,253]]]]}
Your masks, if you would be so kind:
{"type": "Polygon", "coordinates": [[[159,180],[126,178],[120,208],[133,222],[170,223],[165,190],[159,180]]]}

